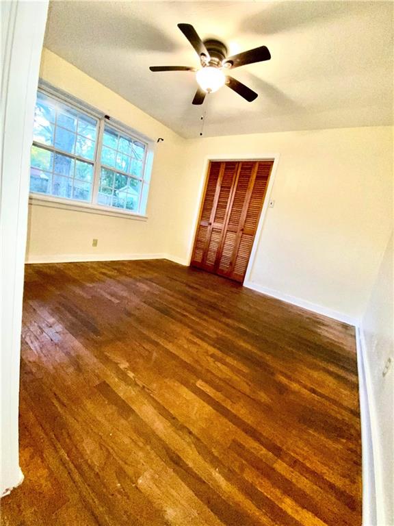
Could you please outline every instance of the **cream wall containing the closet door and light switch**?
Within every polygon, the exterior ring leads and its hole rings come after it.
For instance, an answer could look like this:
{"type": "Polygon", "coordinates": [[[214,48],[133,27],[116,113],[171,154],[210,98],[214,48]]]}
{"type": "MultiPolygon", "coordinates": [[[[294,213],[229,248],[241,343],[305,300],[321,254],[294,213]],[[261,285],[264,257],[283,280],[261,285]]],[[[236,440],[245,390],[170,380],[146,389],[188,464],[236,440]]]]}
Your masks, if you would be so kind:
{"type": "Polygon", "coordinates": [[[391,127],[188,140],[168,252],[187,260],[209,157],[263,158],[278,169],[250,281],[265,292],[358,320],[391,228],[391,127]]]}

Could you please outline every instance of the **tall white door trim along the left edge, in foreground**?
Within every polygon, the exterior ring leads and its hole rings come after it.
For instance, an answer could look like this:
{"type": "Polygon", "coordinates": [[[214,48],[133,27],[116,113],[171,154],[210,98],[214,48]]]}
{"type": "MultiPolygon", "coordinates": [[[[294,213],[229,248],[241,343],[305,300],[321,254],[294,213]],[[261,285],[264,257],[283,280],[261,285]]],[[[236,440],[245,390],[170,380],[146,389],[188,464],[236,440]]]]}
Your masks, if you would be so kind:
{"type": "Polygon", "coordinates": [[[30,147],[48,1],[1,4],[1,488],[20,484],[19,360],[30,147]]]}

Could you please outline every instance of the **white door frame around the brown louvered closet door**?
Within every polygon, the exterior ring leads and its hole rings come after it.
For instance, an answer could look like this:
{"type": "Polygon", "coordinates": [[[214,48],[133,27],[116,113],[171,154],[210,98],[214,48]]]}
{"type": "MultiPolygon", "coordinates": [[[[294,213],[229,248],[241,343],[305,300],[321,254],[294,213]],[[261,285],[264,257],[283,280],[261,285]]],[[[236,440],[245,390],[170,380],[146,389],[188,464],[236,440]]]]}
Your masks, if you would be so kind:
{"type": "Polygon", "coordinates": [[[226,153],[225,155],[207,155],[204,158],[203,162],[203,169],[202,169],[202,177],[200,180],[200,188],[198,189],[198,205],[196,207],[196,212],[194,213],[194,221],[193,221],[193,228],[192,228],[192,234],[189,239],[189,248],[187,251],[187,265],[190,265],[190,262],[192,261],[192,255],[193,255],[193,247],[194,247],[194,239],[196,238],[197,229],[198,229],[198,219],[200,218],[200,211],[202,207],[202,199],[204,199],[204,193],[205,193],[205,186],[207,183],[207,177],[208,177],[208,169],[209,169],[209,163],[211,161],[268,161],[268,160],[274,160],[274,164],[272,165],[272,170],[270,174],[270,179],[268,181],[267,186],[267,192],[265,192],[264,202],[263,202],[263,208],[261,209],[261,214],[259,218],[259,223],[257,223],[257,229],[256,234],[254,234],[254,240],[252,245],[252,251],[250,252],[250,258],[248,262],[248,267],[246,268],[246,273],[244,277],[244,283],[247,281],[250,281],[250,275],[252,273],[252,268],[254,264],[254,259],[256,258],[256,252],[257,247],[259,245],[259,240],[261,238],[261,232],[263,231],[263,226],[265,222],[265,216],[267,214],[267,208],[271,200],[271,193],[272,188],[274,186],[274,179],[276,175],[276,170],[278,168],[278,162],[279,162],[280,154],[279,153],[259,153],[259,154],[231,154],[228,155],[226,153]]]}

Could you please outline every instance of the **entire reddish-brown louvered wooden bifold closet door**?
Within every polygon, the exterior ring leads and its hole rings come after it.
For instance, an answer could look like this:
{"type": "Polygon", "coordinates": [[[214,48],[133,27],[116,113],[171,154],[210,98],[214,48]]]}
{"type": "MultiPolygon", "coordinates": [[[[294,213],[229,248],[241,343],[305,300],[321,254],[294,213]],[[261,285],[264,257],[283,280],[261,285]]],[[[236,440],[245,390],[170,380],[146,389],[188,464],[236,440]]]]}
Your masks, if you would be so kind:
{"type": "Polygon", "coordinates": [[[209,163],[192,266],[244,281],[273,164],[209,163]]]}

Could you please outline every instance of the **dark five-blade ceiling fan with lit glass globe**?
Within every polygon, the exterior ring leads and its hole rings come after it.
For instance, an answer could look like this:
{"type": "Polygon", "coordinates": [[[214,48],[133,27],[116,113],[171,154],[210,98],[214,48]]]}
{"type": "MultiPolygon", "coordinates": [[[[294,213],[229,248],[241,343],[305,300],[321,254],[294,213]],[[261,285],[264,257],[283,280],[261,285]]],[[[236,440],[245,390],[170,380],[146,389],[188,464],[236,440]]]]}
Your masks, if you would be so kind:
{"type": "Polygon", "coordinates": [[[238,53],[231,57],[227,56],[227,48],[220,40],[201,40],[196,29],[190,24],[178,24],[179,29],[185,35],[194,50],[198,54],[201,62],[201,68],[197,69],[189,66],[150,66],[150,71],[194,71],[196,72],[196,81],[198,90],[194,95],[193,104],[202,104],[207,93],[213,93],[226,85],[238,95],[244,97],[248,102],[257,98],[257,93],[239,80],[226,75],[227,71],[246,64],[254,62],[263,62],[270,60],[271,54],[267,47],[261,46],[255,49],[249,49],[243,53],[238,53]]]}

